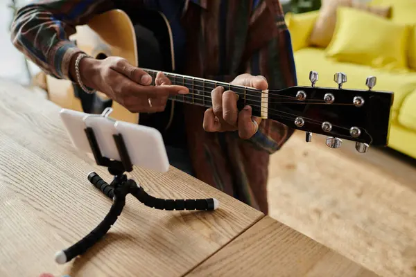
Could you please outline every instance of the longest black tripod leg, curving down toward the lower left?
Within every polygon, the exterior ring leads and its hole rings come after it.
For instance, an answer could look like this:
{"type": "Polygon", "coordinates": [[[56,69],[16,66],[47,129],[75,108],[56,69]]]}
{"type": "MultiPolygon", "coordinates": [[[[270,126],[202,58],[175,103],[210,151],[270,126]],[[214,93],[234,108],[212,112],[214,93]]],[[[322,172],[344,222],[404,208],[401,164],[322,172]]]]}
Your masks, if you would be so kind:
{"type": "Polygon", "coordinates": [[[126,190],[128,190],[128,188],[117,188],[114,190],[115,197],[110,211],[104,217],[104,220],[98,224],[93,231],[76,244],[73,244],[73,246],[55,254],[55,261],[58,262],[58,264],[64,264],[76,256],[82,255],[96,242],[98,242],[98,240],[103,238],[105,233],[110,230],[112,224],[116,222],[117,218],[121,214],[121,211],[123,211],[123,207],[125,205],[125,195],[127,194],[126,190]]]}

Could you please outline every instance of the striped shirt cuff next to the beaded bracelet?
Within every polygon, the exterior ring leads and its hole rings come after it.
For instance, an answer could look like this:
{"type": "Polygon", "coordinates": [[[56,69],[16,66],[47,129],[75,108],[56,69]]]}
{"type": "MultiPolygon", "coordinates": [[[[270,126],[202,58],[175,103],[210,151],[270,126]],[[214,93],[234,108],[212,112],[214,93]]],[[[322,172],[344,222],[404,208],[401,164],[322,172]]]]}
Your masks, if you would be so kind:
{"type": "Polygon", "coordinates": [[[50,54],[49,60],[51,61],[51,67],[56,78],[70,80],[76,82],[71,78],[69,74],[69,66],[71,59],[78,53],[84,53],[73,42],[63,41],[53,48],[50,54]]]}

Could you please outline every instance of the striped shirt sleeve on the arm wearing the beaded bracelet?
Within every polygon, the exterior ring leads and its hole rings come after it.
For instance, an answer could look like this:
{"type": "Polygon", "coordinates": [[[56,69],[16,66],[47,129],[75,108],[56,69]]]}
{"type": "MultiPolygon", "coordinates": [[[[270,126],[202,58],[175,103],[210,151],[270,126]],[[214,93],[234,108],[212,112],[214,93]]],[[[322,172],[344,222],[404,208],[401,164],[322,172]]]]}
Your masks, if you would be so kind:
{"type": "Polygon", "coordinates": [[[12,23],[12,43],[45,73],[73,81],[69,62],[82,51],[69,37],[76,33],[76,26],[111,8],[111,0],[33,1],[17,11],[12,23]]]}

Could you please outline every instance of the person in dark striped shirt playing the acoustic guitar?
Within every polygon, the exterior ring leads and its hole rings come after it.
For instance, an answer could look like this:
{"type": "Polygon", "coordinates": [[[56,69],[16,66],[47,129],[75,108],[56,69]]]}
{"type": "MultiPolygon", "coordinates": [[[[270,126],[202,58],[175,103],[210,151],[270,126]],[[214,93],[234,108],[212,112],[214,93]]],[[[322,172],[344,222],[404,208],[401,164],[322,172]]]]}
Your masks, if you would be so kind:
{"type": "MultiPolygon", "coordinates": [[[[277,0],[40,0],[17,12],[12,42],[44,72],[85,91],[102,91],[133,112],[162,111],[169,95],[189,93],[162,73],[152,86],[149,75],[120,57],[96,60],[69,42],[75,26],[111,9],[132,19],[137,11],[163,12],[172,28],[177,73],[257,89],[296,85],[277,0]]],[[[165,141],[171,164],[267,214],[269,155],[293,129],[252,117],[249,106],[238,111],[236,94],[223,87],[211,97],[211,109],[175,108],[171,134],[164,137],[171,141],[165,141]]]]}

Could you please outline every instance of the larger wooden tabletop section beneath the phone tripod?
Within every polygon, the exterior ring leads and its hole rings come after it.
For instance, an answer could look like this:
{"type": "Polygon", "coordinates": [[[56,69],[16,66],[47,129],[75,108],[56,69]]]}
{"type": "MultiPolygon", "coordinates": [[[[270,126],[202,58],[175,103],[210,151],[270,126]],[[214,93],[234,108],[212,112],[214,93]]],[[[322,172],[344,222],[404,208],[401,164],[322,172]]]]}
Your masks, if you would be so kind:
{"type": "Polygon", "coordinates": [[[55,252],[92,231],[111,206],[87,173],[111,175],[73,148],[59,110],[0,80],[0,276],[182,276],[263,217],[175,168],[135,168],[132,177],[155,197],[216,197],[220,208],[158,211],[129,196],[104,240],[57,265],[55,252]]]}

